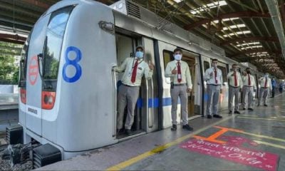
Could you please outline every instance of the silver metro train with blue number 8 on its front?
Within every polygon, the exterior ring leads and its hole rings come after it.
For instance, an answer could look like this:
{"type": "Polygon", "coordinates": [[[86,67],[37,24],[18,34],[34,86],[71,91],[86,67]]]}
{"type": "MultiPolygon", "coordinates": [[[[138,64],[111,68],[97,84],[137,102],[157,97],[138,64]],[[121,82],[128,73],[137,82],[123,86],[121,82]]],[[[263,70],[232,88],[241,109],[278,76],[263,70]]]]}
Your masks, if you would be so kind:
{"type": "MultiPolygon", "coordinates": [[[[171,126],[170,79],[165,78],[172,51],[182,48],[190,66],[189,118],[202,117],[207,101],[204,71],[219,60],[224,83],[220,110],[227,108],[227,73],[233,63],[224,50],[132,1],[112,6],[91,0],[60,1],[36,22],[24,45],[19,81],[19,124],[24,144],[49,144],[65,160],[88,150],[171,126]],[[135,109],[135,135],[116,135],[120,73],[113,68],[145,47],[155,65],[143,80],[135,109]]],[[[239,63],[244,71],[247,66],[239,63]]],[[[252,72],[260,76],[254,66],[252,72]]],[[[256,81],[257,82],[257,81],[256,81]]],[[[178,107],[179,108],[179,107],[178,107]]],[[[180,110],[177,111],[180,120],[180,110]]]]}

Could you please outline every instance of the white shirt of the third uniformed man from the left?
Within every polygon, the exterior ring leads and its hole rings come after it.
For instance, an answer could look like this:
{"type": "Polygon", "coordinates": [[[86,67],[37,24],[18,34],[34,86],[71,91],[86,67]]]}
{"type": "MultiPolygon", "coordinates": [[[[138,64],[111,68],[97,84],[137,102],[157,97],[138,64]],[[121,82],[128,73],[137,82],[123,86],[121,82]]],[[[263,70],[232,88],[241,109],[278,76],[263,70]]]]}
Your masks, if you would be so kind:
{"type": "Polygon", "coordinates": [[[217,78],[214,76],[214,69],[215,68],[207,68],[207,70],[204,73],[204,81],[207,81],[207,84],[213,84],[213,85],[222,85],[222,71],[219,68],[217,69],[217,78]],[[210,74],[212,73],[212,76],[210,74]],[[216,83],[217,79],[217,83],[216,83]]]}

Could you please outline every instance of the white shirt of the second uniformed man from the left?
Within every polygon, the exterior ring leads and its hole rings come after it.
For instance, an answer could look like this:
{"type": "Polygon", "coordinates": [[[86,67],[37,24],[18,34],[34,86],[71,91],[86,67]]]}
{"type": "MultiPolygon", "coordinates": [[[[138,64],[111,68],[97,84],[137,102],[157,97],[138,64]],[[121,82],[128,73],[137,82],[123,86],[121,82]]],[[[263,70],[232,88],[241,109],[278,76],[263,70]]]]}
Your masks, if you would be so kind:
{"type": "Polygon", "coordinates": [[[181,78],[182,81],[178,82],[177,81],[177,74],[178,74],[178,69],[177,69],[177,61],[170,61],[167,63],[167,66],[165,68],[165,77],[170,77],[171,82],[175,84],[182,84],[182,83],[187,83],[188,88],[192,88],[192,80],[191,80],[191,74],[190,74],[190,69],[188,64],[185,61],[180,61],[180,68],[181,68],[181,78]],[[176,74],[172,74],[172,70],[175,68],[177,70],[176,74]]]}

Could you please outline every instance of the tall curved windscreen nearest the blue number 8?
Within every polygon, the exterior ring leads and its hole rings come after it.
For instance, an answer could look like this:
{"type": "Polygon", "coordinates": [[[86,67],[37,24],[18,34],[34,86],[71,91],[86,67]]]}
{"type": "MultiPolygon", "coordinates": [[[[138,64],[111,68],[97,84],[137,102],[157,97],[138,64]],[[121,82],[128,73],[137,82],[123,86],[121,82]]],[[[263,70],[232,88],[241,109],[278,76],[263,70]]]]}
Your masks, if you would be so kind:
{"type": "MultiPolygon", "coordinates": [[[[47,83],[51,80],[56,81],[58,76],[58,64],[61,54],[61,45],[63,36],[66,31],[66,24],[71,14],[73,6],[68,6],[51,14],[46,31],[46,39],[43,46],[43,78],[47,83]]],[[[51,83],[48,88],[55,89],[55,85],[51,83]]]]}

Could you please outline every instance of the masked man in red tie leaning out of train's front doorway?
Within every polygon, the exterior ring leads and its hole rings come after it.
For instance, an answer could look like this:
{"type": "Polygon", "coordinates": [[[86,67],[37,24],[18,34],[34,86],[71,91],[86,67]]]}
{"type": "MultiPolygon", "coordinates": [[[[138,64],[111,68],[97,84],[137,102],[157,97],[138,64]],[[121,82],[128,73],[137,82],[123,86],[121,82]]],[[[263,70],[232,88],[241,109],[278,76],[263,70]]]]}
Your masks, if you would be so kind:
{"type": "Polygon", "coordinates": [[[131,128],[134,121],[135,104],[138,101],[140,84],[142,76],[145,75],[147,80],[152,78],[154,66],[152,63],[143,61],[143,47],[135,48],[135,58],[126,58],[121,66],[115,67],[115,71],[125,71],[122,78],[123,85],[118,90],[118,116],[117,116],[117,132],[123,128],[123,116],[125,106],[128,104],[128,115],[125,119],[125,133],[131,135],[131,128]]]}

